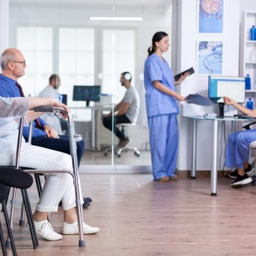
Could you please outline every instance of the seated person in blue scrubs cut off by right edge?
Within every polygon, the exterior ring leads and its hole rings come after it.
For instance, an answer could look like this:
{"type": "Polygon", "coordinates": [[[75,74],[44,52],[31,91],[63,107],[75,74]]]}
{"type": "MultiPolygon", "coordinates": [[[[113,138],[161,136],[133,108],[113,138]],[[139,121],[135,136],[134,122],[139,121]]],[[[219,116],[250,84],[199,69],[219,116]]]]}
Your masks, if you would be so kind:
{"type": "MultiPolygon", "coordinates": [[[[256,117],[256,108],[253,110],[244,108],[228,97],[224,97],[224,102],[227,105],[233,105],[245,115],[256,117]]],[[[232,188],[241,187],[252,182],[252,178],[249,177],[252,174],[252,166],[249,164],[249,145],[255,140],[256,129],[234,132],[228,136],[225,165],[237,168],[229,174],[231,179],[235,179],[230,184],[232,188]]]]}

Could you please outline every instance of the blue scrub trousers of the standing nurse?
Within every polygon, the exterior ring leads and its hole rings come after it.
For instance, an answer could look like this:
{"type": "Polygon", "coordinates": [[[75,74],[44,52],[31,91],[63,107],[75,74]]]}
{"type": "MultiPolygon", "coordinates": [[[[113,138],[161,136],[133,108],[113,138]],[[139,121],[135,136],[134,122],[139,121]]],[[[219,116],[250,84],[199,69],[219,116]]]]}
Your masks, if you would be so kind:
{"type": "Polygon", "coordinates": [[[173,177],[179,145],[177,114],[150,116],[148,126],[154,180],[173,177]]]}

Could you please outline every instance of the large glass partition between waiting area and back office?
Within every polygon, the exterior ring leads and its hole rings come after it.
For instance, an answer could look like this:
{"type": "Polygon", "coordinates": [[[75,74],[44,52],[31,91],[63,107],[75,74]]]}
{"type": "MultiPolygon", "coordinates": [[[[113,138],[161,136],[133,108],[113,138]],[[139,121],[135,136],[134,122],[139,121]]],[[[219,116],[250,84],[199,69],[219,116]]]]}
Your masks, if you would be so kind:
{"type": "Polygon", "coordinates": [[[19,83],[26,95],[37,96],[51,74],[60,76],[54,92],[67,101],[76,132],[86,141],[83,165],[151,164],[143,65],[154,33],[172,35],[172,0],[152,2],[10,0],[10,47],[20,49],[28,64],[19,83]],[[119,126],[131,147],[123,150],[114,129],[115,110],[127,92],[124,79],[138,93],[140,109],[133,124],[119,126]],[[81,97],[74,97],[74,86],[81,86],[81,97]],[[93,96],[88,86],[100,86],[100,95],[93,96]],[[108,122],[102,122],[106,115],[108,122]]]}

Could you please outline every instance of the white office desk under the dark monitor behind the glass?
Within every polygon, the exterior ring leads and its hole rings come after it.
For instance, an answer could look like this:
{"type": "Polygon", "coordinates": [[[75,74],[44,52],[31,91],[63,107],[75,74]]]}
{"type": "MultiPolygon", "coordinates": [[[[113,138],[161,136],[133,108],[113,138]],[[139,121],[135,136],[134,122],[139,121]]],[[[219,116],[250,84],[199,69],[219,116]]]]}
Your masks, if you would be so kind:
{"type": "MultiPolygon", "coordinates": [[[[96,147],[95,145],[95,113],[98,111],[100,116],[103,111],[111,111],[113,106],[112,105],[100,105],[100,106],[88,106],[88,107],[68,107],[70,109],[90,109],[91,110],[91,129],[92,129],[92,143],[91,143],[91,149],[92,150],[99,150],[99,147],[96,147]]],[[[77,120],[75,120],[77,121],[77,120]]]]}

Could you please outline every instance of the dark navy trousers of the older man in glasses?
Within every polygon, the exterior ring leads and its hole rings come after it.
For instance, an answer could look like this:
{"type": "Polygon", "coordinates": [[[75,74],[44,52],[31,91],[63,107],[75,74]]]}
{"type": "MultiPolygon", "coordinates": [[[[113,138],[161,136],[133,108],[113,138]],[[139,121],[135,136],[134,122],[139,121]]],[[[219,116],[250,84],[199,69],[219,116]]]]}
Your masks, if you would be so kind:
{"type": "MultiPolygon", "coordinates": [[[[68,136],[59,135],[59,139],[55,138],[46,138],[46,137],[37,137],[32,139],[32,145],[49,148],[52,150],[60,151],[66,154],[70,154],[70,145],[68,136]]],[[[81,158],[84,154],[84,140],[81,140],[76,143],[77,147],[77,162],[80,164],[81,158]]]]}

